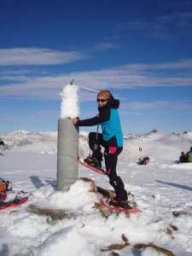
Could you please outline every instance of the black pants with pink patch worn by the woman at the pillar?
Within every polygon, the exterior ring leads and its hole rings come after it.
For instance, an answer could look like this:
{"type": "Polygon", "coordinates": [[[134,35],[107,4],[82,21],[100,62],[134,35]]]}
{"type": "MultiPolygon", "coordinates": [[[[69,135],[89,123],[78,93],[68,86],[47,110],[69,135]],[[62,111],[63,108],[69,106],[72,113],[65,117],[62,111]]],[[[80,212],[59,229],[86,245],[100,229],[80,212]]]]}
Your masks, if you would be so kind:
{"type": "Polygon", "coordinates": [[[102,134],[96,132],[90,132],[89,134],[89,146],[93,151],[92,156],[97,160],[102,160],[102,147],[104,149],[104,160],[106,166],[106,172],[109,178],[109,183],[113,186],[116,197],[120,200],[127,200],[127,192],[124,189],[125,185],[122,179],[117,176],[116,166],[118,161],[118,155],[122,152],[123,147],[109,146],[108,142],[102,140],[102,134]],[[102,146],[102,147],[101,147],[102,146]]]}

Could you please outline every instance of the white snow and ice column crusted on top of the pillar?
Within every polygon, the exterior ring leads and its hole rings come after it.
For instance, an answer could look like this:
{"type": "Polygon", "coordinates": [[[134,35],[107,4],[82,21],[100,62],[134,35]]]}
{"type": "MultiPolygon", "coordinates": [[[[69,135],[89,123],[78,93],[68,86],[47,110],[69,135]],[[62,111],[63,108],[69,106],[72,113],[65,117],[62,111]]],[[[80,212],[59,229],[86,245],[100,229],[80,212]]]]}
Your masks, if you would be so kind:
{"type": "Polygon", "coordinates": [[[79,87],[76,85],[67,84],[62,92],[60,93],[62,97],[61,102],[61,119],[75,118],[80,114],[79,110],[79,87]]]}

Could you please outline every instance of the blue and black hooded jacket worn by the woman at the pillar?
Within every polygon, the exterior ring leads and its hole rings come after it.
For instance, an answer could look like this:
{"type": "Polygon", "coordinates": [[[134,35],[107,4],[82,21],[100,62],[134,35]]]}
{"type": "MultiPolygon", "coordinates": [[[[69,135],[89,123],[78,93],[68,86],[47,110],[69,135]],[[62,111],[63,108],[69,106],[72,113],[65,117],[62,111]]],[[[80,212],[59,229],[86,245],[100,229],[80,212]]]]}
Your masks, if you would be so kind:
{"type": "Polygon", "coordinates": [[[123,147],[123,133],[119,119],[119,100],[112,95],[106,105],[99,107],[99,113],[91,119],[78,120],[78,126],[102,126],[102,139],[108,146],[123,147]]]}

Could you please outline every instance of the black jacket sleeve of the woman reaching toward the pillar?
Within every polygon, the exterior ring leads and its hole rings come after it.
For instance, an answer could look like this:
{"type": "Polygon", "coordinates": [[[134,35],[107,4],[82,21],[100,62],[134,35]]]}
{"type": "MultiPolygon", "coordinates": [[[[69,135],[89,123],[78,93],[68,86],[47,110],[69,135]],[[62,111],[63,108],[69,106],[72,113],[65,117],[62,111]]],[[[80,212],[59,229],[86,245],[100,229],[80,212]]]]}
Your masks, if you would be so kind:
{"type": "Polygon", "coordinates": [[[78,120],[76,125],[77,126],[93,126],[102,124],[110,119],[110,108],[105,109],[104,111],[99,112],[94,118],[92,119],[84,119],[78,120]]]}

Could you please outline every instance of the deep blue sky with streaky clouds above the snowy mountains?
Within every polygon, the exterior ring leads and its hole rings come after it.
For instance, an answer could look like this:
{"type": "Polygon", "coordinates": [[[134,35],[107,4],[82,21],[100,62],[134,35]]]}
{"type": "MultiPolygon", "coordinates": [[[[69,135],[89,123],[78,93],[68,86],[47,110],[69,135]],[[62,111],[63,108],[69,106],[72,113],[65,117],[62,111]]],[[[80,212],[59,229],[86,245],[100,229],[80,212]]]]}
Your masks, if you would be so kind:
{"type": "Polygon", "coordinates": [[[124,134],[192,130],[192,2],[1,0],[0,134],[57,131],[72,79],[120,100],[124,134]]]}

